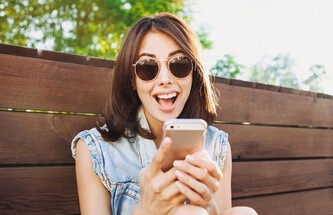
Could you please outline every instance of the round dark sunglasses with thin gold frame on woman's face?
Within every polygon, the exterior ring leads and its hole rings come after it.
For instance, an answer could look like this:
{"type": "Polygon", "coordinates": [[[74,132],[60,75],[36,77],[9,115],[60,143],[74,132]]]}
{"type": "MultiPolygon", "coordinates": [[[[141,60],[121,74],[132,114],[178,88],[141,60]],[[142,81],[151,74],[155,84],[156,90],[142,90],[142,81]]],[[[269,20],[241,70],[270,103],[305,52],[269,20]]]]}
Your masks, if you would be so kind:
{"type": "Polygon", "coordinates": [[[160,62],[167,62],[169,71],[176,78],[185,78],[193,70],[193,62],[185,56],[177,56],[171,59],[147,58],[138,60],[133,64],[135,74],[143,81],[152,81],[161,69],[160,62]]]}

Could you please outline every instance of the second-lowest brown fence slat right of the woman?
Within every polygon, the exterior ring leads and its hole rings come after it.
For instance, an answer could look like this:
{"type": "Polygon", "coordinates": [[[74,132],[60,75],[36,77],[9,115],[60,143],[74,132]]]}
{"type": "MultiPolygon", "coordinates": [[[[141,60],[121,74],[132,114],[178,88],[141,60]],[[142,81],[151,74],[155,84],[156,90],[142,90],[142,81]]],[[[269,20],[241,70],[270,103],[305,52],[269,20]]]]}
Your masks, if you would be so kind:
{"type": "Polygon", "coordinates": [[[333,187],[333,159],[234,162],[233,196],[333,187]]]}

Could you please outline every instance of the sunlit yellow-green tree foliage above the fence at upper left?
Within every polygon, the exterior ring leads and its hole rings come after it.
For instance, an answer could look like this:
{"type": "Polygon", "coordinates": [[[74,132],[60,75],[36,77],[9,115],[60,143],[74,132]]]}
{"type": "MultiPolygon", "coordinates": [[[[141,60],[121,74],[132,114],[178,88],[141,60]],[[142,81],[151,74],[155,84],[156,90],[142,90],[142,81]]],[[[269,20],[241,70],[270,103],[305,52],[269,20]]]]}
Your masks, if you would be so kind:
{"type": "Polygon", "coordinates": [[[1,0],[0,11],[1,43],[110,59],[143,15],[172,12],[191,21],[184,0],[1,0]]]}

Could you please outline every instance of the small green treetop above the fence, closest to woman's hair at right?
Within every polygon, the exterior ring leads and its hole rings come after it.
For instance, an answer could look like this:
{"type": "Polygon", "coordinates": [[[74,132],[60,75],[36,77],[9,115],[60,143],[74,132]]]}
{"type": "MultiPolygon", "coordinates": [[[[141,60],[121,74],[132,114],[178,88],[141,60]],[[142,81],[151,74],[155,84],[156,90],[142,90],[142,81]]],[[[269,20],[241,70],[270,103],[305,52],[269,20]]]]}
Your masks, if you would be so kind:
{"type": "Polygon", "coordinates": [[[242,73],[242,69],[244,66],[237,63],[234,56],[224,55],[216,61],[216,64],[210,69],[210,73],[218,77],[236,78],[242,73]]]}

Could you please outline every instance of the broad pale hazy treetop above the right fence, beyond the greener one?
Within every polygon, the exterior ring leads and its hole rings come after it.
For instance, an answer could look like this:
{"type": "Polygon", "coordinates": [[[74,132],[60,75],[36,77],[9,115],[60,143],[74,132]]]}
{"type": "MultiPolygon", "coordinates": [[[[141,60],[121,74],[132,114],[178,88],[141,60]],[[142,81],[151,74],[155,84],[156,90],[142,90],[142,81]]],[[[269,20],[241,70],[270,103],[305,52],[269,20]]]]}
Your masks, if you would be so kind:
{"type": "Polygon", "coordinates": [[[264,57],[252,67],[249,79],[265,84],[299,88],[299,81],[293,72],[294,67],[294,60],[289,55],[264,57]]]}

